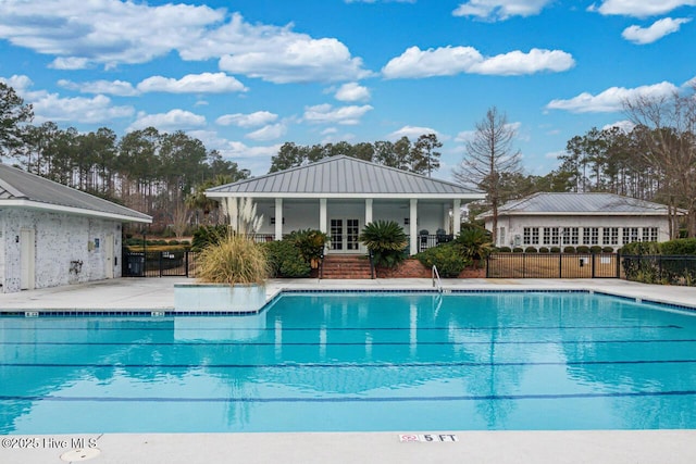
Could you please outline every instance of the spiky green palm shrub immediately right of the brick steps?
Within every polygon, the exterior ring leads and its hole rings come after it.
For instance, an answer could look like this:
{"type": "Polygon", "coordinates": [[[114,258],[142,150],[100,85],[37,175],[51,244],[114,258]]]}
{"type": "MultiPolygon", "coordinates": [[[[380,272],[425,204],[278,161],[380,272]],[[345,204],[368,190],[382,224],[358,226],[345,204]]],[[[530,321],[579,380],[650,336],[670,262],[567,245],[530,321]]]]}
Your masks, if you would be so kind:
{"type": "Polygon", "coordinates": [[[366,224],[360,234],[360,241],[370,250],[377,266],[396,267],[406,259],[408,237],[394,221],[366,224]]]}

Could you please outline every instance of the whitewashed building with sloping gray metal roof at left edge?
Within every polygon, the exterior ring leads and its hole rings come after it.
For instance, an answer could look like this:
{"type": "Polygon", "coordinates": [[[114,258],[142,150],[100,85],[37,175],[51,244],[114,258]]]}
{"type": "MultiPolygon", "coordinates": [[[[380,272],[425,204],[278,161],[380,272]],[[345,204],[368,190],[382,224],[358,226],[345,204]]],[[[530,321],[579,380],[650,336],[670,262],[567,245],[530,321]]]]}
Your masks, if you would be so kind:
{"type": "Polygon", "coordinates": [[[121,276],[123,223],[147,214],[0,164],[0,291],[121,276]]]}

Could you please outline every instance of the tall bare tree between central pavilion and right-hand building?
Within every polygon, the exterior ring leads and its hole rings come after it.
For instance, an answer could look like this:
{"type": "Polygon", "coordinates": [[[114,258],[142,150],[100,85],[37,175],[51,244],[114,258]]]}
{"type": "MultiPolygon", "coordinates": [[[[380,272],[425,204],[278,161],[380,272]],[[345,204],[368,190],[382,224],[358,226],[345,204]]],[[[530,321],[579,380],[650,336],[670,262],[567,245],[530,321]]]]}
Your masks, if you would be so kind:
{"type": "Polygon", "coordinates": [[[465,145],[465,155],[452,174],[463,185],[480,188],[493,213],[493,242],[498,239],[498,206],[505,201],[504,177],[520,174],[521,153],[512,143],[517,136],[505,113],[493,106],[476,123],[476,130],[465,145]]]}

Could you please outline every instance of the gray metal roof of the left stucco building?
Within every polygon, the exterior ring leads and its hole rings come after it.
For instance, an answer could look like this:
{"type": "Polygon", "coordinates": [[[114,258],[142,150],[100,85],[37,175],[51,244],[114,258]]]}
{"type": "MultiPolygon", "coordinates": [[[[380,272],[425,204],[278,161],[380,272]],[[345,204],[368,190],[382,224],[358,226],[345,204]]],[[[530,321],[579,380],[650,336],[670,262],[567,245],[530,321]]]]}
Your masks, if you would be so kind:
{"type": "Polygon", "coordinates": [[[152,222],[147,214],[0,163],[2,205],[24,205],[126,222],[152,222]]]}

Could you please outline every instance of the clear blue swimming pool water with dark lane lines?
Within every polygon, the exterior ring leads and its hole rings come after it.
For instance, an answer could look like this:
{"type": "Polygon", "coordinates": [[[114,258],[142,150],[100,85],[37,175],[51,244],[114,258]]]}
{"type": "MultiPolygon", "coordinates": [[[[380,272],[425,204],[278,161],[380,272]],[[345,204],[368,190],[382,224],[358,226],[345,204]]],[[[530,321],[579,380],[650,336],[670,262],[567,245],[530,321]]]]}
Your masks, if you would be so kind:
{"type": "Polygon", "coordinates": [[[0,434],[696,428],[696,317],[585,292],[0,317],[0,434]]]}

